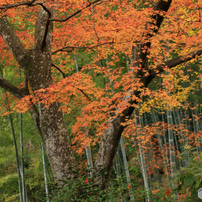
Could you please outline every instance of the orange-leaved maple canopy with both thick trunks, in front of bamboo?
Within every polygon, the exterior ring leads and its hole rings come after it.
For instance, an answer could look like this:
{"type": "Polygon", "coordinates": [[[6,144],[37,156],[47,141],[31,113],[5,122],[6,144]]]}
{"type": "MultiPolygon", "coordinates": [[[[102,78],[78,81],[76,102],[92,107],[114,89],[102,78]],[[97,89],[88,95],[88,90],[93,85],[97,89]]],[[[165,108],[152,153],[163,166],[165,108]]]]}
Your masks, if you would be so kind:
{"type": "MultiPolygon", "coordinates": [[[[138,104],[141,114],[166,103],[181,106],[187,99],[201,74],[184,89],[181,82],[187,78],[180,65],[201,60],[201,6],[191,0],[0,2],[1,64],[5,72],[9,65],[24,72],[24,84],[0,78],[0,86],[18,98],[10,95],[13,110],[30,112],[56,181],[74,176],[74,150],[82,153],[99,141],[94,168],[107,174],[95,184],[104,188],[123,131],[134,132],[138,104]],[[69,54],[89,58],[81,71],[72,73],[75,60],[69,54]],[[121,54],[128,58],[127,68],[121,54]],[[97,85],[100,75],[104,82],[97,85]],[[149,85],[157,78],[163,83],[154,90],[149,85]],[[72,147],[63,112],[74,108],[81,112],[72,127],[72,147]],[[91,127],[94,137],[85,132],[91,127]]],[[[145,144],[163,129],[156,123],[144,130],[139,141],[145,144]]]]}

